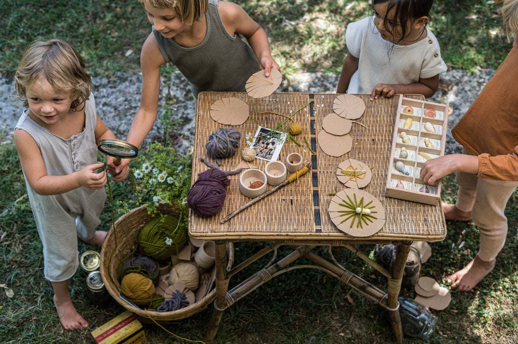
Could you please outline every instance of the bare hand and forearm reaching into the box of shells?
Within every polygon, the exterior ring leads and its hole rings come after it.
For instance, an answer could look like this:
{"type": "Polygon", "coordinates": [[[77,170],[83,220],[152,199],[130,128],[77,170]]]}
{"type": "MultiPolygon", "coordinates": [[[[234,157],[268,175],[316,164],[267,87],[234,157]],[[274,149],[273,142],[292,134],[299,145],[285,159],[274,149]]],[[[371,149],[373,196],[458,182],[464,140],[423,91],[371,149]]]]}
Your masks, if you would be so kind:
{"type": "Polygon", "coordinates": [[[479,172],[479,157],[467,154],[450,154],[428,160],[421,168],[421,179],[428,185],[453,172],[477,174],[479,172]]]}

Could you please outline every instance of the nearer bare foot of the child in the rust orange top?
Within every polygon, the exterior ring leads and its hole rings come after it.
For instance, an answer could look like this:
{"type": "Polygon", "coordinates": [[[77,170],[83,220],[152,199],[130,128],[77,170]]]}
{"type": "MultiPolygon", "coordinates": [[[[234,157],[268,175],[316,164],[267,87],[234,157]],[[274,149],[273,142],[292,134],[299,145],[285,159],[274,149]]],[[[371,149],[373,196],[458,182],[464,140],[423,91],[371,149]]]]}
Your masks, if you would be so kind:
{"type": "Polygon", "coordinates": [[[477,256],[470,261],[468,265],[462,268],[462,270],[448,277],[448,282],[452,283],[452,288],[457,288],[461,291],[470,291],[493,270],[495,264],[496,259],[493,259],[491,262],[485,262],[477,256]]]}

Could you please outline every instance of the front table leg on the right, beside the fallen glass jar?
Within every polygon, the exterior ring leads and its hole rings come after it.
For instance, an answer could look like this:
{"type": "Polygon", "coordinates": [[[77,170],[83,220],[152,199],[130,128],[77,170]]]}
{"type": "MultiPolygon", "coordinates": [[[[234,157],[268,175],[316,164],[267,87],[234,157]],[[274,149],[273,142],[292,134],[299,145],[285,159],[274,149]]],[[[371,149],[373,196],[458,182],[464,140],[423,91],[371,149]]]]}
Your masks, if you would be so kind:
{"type": "Polygon", "coordinates": [[[392,323],[392,331],[396,337],[396,341],[401,343],[403,341],[403,328],[401,327],[401,318],[399,317],[399,309],[396,309],[401,290],[401,280],[405,265],[407,263],[408,252],[410,251],[410,243],[399,243],[396,248],[396,260],[392,269],[392,278],[389,278],[389,291],[387,298],[387,306],[394,310],[389,310],[389,316],[392,323]]]}

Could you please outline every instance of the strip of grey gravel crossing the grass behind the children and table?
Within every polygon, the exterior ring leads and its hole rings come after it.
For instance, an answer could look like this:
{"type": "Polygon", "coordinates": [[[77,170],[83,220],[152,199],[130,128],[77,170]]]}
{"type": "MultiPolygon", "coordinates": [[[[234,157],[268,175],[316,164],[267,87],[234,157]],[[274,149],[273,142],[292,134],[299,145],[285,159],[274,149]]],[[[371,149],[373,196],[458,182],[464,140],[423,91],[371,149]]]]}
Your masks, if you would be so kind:
{"type": "MultiPolygon", "coordinates": [[[[440,103],[449,101],[450,108],[453,109],[448,119],[446,153],[461,152],[461,147],[451,136],[451,128],[466,112],[493,74],[493,69],[484,69],[474,74],[460,70],[441,74],[440,88],[435,96],[428,100],[440,103]]],[[[165,81],[163,80],[163,84],[165,81]]],[[[116,81],[96,77],[92,82],[97,114],[118,138],[124,138],[140,103],[141,76],[121,74],[116,81]]],[[[333,93],[337,83],[338,75],[335,74],[300,73],[283,80],[279,91],[333,93]]],[[[173,116],[182,123],[182,130],[178,133],[182,138],[178,142],[178,147],[181,151],[186,151],[194,141],[195,102],[191,89],[179,72],[172,76],[168,87],[162,86],[161,89],[162,95],[169,93],[176,99],[172,105],[173,116]]],[[[10,96],[14,93],[13,79],[0,76],[0,130],[7,132],[6,140],[10,140],[22,110],[10,96]]],[[[162,133],[163,127],[159,119],[146,139],[146,144],[161,136],[162,133]]]]}

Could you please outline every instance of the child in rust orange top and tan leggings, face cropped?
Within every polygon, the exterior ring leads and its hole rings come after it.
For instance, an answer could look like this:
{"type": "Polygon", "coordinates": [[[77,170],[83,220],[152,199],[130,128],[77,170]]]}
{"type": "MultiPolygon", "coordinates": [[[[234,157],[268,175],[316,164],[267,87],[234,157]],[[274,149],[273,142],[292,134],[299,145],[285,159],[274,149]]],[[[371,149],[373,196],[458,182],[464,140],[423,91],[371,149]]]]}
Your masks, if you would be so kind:
{"type": "Polygon", "coordinates": [[[495,267],[507,235],[504,210],[518,187],[518,0],[505,0],[502,14],[514,37],[513,48],[452,129],[464,154],[428,160],[421,170],[425,183],[456,172],[457,201],[442,204],[444,217],[473,219],[480,230],[477,256],[448,278],[453,288],[463,291],[473,289],[495,267]]]}

